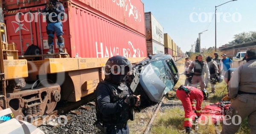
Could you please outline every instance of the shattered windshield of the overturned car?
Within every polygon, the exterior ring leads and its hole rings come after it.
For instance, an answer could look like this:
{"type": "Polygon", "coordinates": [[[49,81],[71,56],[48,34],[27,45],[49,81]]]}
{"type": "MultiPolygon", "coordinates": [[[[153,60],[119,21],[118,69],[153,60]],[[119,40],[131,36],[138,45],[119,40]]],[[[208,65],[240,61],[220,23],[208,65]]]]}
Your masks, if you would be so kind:
{"type": "Polygon", "coordinates": [[[164,94],[171,91],[174,87],[174,82],[169,70],[166,68],[165,62],[163,60],[156,60],[152,61],[150,64],[160,80],[166,85],[164,94]]]}

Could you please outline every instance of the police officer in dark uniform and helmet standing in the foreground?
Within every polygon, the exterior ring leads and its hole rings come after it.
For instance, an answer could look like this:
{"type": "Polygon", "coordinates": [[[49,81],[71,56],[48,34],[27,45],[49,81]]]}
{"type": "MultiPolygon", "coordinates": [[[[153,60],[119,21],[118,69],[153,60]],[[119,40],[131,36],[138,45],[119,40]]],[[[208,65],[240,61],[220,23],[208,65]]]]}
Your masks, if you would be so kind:
{"type": "Polygon", "coordinates": [[[129,60],[123,56],[109,58],[105,66],[105,80],[95,90],[95,124],[102,134],[129,134],[127,121],[134,120],[134,107],[140,105],[140,95],[133,95],[124,82],[129,66],[129,60]]]}

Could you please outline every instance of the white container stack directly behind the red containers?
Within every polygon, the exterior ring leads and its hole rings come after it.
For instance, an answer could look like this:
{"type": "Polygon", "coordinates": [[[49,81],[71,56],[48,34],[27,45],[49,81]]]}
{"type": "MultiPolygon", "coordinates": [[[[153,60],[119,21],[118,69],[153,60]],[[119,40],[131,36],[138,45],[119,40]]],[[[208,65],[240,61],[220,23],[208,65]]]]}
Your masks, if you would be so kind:
{"type": "Polygon", "coordinates": [[[147,52],[150,54],[164,54],[163,26],[151,12],[145,13],[147,52]]]}

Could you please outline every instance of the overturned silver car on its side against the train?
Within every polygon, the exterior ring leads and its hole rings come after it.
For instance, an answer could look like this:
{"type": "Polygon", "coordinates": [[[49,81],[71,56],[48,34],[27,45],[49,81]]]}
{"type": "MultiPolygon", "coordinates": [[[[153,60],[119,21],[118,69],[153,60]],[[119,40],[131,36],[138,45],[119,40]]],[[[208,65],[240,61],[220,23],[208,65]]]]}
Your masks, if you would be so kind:
{"type": "Polygon", "coordinates": [[[141,95],[142,105],[159,102],[179,79],[178,70],[169,54],[150,55],[136,63],[130,83],[135,95],[141,95]]]}

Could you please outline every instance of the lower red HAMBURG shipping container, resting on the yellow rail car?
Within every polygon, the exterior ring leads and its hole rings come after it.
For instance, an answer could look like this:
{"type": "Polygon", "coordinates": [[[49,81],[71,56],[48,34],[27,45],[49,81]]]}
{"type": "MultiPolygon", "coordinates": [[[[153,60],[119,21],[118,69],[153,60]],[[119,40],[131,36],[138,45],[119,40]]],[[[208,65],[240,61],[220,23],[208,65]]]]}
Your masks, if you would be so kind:
{"type": "MultiPolygon", "coordinates": [[[[145,36],[143,37],[106,20],[101,17],[102,14],[93,14],[70,2],[64,2],[64,7],[66,11],[65,19],[67,19],[67,21],[63,22],[64,47],[67,48],[70,57],[146,56],[145,36]]],[[[30,23],[26,21],[23,21],[20,25],[21,27],[19,27],[17,20],[15,20],[17,12],[6,13],[8,42],[17,44],[19,51],[21,50],[20,37],[23,51],[26,51],[27,46],[30,45],[31,37],[34,37],[34,44],[38,44],[39,48],[43,48],[44,54],[48,51],[47,23],[45,22],[45,16],[41,14],[38,17],[37,12],[41,8],[44,8],[44,6],[31,8],[31,12],[34,12],[35,15],[31,23],[32,29],[30,29],[30,23]]],[[[21,15],[20,20],[24,20],[24,18],[29,20],[29,15],[26,15],[28,13],[26,13],[25,9],[17,11],[24,13],[24,15],[21,15]]],[[[145,24],[143,27],[145,27],[145,24]]],[[[55,51],[58,52],[56,42],[55,37],[55,51]]]]}

